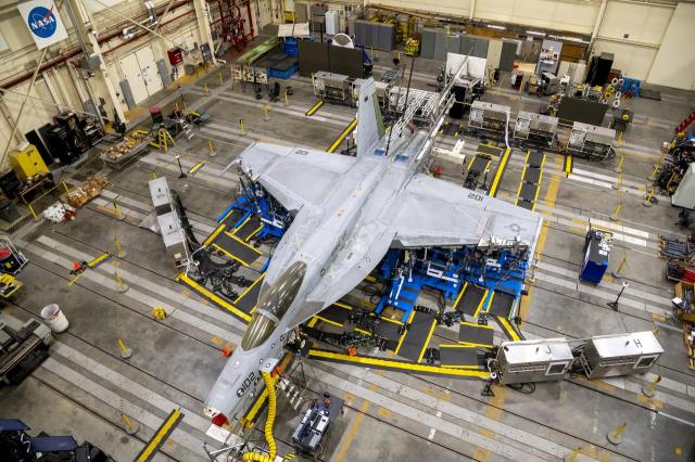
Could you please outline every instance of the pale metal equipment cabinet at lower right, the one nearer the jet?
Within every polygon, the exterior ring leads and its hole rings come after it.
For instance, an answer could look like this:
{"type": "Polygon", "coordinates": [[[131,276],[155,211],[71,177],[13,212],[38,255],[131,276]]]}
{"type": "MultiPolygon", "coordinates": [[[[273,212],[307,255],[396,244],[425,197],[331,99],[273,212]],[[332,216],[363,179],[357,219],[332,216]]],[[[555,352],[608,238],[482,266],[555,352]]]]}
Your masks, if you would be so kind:
{"type": "Polygon", "coordinates": [[[573,361],[565,337],[504,342],[497,350],[504,385],[561,381],[573,361]]]}

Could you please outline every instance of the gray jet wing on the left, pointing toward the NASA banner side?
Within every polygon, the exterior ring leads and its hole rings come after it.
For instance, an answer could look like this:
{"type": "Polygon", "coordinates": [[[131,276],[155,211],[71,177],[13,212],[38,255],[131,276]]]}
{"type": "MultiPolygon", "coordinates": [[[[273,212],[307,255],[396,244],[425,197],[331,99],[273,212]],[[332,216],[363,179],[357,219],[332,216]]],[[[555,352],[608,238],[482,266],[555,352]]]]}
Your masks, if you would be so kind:
{"type": "Polygon", "coordinates": [[[257,142],[247,147],[236,162],[285,208],[299,210],[305,205],[318,207],[327,191],[355,158],[257,142]]]}

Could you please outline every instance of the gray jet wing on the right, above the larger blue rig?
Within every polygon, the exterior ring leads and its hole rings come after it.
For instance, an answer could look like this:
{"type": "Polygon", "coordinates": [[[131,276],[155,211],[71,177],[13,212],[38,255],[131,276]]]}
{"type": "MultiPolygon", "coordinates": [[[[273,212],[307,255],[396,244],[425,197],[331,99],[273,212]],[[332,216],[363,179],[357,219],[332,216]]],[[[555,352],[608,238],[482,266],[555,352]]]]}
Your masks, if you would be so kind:
{"type": "Polygon", "coordinates": [[[422,174],[384,214],[403,247],[471,245],[494,236],[518,239],[533,252],[543,224],[536,213],[422,174]]]}

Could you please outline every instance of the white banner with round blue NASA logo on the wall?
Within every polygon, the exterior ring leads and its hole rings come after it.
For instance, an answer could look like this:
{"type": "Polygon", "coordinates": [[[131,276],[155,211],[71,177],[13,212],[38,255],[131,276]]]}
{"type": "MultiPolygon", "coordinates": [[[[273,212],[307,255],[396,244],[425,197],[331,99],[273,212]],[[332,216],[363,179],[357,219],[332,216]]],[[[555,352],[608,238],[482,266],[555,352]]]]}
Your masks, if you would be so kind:
{"type": "Polygon", "coordinates": [[[58,7],[53,0],[31,0],[17,4],[39,50],[67,38],[58,7]]]}

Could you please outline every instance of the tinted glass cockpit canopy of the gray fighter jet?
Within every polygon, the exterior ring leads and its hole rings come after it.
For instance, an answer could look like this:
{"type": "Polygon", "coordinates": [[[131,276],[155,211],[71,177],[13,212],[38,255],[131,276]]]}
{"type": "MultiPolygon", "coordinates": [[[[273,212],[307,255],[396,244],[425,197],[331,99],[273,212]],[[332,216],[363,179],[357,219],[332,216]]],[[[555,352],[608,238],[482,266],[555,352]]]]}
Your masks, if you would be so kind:
{"type": "Polygon", "coordinates": [[[241,339],[241,348],[249,351],[261,346],[278,326],[304,281],[306,264],[294,261],[268,290],[261,294],[258,305],[241,339]]]}

